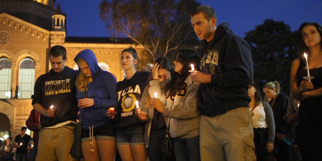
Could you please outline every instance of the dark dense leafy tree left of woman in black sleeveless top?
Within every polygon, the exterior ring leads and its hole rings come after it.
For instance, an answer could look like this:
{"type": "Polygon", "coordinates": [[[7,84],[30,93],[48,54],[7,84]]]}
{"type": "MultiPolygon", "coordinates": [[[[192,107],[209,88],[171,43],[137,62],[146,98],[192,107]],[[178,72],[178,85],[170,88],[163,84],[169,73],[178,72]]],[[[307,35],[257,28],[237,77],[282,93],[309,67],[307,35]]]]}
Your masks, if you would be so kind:
{"type": "Polygon", "coordinates": [[[297,56],[296,32],[283,21],[266,19],[264,24],[247,32],[244,39],[252,50],[254,81],[258,87],[277,81],[289,93],[291,64],[297,56]]]}

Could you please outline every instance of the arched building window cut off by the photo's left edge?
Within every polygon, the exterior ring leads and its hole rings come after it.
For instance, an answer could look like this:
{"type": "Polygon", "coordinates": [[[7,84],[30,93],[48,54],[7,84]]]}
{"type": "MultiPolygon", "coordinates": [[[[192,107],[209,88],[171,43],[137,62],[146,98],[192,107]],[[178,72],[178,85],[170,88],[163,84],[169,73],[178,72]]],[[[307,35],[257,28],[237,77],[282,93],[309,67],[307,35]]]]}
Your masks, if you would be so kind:
{"type": "Polygon", "coordinates": [[[11,62],[0,58],[0,98],[11,97],[11,62]]]}

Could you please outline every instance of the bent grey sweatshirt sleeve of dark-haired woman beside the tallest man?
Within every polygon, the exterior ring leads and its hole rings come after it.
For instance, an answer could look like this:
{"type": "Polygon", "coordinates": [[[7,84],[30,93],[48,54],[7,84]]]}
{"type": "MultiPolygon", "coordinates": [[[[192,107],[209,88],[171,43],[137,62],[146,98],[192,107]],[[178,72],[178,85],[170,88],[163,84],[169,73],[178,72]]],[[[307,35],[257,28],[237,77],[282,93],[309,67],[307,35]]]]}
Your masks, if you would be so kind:
{"type": "MultiPolygon", "coordinates": [[[[176,104],[174,100],[173,105],[165,106],[163,110],[164,116],[176,119],[188,119],[200,115],[197,107],[196,97],[196,93],[199,89],[200,84],[197,82],[192,83],[190,76],[187,78],[187,80],[187,93],[185,95],[185,101],[176,104]]],[[[177,95],[175,97],[177,97],[177,95]]]]}

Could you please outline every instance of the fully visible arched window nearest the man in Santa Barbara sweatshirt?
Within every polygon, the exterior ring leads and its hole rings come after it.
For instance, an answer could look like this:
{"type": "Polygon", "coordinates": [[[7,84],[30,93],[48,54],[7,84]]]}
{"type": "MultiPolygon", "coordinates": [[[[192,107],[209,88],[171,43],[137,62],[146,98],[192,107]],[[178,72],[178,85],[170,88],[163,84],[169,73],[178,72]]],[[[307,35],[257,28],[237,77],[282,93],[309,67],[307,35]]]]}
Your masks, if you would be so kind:
{"type": "Polygon", "coordinates": [[[31,98],[35,83],[35,62],[25,58],[19,65],[18,98],[31,98]]]}

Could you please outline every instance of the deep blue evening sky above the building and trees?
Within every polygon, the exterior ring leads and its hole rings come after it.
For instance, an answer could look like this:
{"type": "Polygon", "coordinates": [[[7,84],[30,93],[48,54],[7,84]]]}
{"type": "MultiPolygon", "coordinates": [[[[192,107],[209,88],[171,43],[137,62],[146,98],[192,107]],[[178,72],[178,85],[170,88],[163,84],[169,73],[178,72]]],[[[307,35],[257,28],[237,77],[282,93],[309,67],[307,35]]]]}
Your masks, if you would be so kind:
{"type": "MultiPolygon", "coordinates": [[[[99,17],[102,0],[56,0],[67,17],[67,36],[108,37],[105,24],[99,17]]],[[[198,1],[215,9],[218,24],[230,23],[230,28],[240,37],[254,30],[265,19],[284,21],[292,31],[304,22],[322,23],[322,1],[198,1]]]]}

